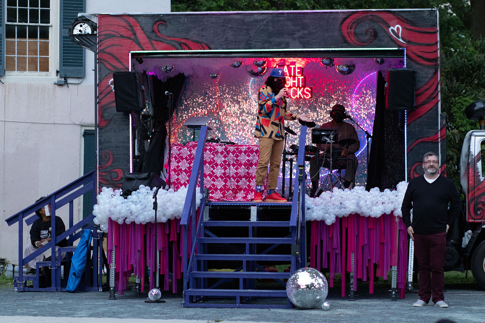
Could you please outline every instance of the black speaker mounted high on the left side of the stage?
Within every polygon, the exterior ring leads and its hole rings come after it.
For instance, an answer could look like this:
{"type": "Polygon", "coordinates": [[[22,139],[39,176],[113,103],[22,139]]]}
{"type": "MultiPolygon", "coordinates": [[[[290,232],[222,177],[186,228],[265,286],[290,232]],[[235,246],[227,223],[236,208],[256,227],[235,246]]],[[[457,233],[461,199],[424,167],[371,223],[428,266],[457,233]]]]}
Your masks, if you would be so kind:
{"type": "Polygon", "coordinates": [[[114,72],[114,102],[117,112],[139,112],[145,108],[140,71],[114,72]]]}

